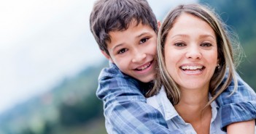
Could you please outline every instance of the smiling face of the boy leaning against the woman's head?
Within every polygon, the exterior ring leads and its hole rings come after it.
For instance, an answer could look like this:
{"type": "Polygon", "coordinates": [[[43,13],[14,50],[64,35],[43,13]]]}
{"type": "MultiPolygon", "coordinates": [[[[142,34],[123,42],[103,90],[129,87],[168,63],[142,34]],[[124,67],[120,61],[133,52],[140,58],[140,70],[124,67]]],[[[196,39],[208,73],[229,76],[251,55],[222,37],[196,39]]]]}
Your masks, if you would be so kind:
{"type": "Polygon", "coordinates": [[[109,33],[109,55],[104,56],[127,75],[148,83],[155,78],[157,35],[148,25],[131,22],[127,30],[109,33]]]}

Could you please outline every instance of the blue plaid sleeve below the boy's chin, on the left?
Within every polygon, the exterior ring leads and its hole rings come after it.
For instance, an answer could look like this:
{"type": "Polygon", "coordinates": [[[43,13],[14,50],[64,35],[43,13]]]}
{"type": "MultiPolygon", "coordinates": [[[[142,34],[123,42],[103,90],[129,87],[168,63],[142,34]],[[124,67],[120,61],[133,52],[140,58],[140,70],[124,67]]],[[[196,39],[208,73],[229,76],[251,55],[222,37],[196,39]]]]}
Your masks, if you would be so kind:
{"type": "Polygon", "coordinates": [[[146,104],[134,80],[103,78],[96,95],[104,101],[104,116],[108,133],[183,133],[168,130],[163,115],[146,104]]]}

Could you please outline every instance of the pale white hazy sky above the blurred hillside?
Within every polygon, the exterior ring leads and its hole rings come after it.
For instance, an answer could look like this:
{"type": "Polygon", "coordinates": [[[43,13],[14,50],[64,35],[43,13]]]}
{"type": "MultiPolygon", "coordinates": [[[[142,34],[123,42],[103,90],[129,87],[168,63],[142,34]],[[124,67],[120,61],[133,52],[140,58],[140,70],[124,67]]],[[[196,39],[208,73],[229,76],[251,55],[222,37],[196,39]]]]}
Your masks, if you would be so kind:
{"type": "MultiPolygon", "coordinates": [[[[0,1],[0,114],[105,60],[89,28],[94,1],[0,1]]],[[[148,1],[158,19],[195,2],[148,1]]]]}

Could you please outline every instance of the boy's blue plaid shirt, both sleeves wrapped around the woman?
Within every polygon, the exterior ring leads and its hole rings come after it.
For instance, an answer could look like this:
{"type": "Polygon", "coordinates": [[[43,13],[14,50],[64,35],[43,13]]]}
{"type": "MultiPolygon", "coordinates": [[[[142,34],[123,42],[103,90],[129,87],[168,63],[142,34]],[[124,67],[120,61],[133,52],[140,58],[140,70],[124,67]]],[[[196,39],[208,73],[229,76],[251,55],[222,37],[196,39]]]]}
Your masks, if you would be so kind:
{"type": "MultiPolygon", "coordinates": [[[[238,91],[233,96],[230,87],[217,98],[222,118],[222,128],[233,123],[256,119],[256,95],[241,78],[238,91]]],[[[150,84],[149,84],[150,85],[150,84]]],[[[147,104],[145,84],[121,72],[109,62],[98,78],[96,95],[104,102],[104,116],[108,133],[185,133],[169,130],[158,109],[147,104]]]]}

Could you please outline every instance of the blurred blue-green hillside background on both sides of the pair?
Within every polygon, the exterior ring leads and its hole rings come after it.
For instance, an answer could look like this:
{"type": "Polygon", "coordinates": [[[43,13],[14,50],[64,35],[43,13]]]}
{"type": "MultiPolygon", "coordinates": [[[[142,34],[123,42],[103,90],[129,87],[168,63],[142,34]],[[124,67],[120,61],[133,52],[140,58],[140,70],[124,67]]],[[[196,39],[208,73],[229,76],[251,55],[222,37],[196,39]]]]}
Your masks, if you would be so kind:
{"type": "MultiPolygon", "coordinates": [[[[200,1],[220,14],[240,39],[246,57],[238,73],[256,88],[256,1],[200,1]]],[[[168,9],[166,9],[168,12],[168,9]]],[[[165,16],[163,12],[162,16],[165,16]]],[[[96,45],[96,44],[94,44],[96,45]]],[[[103,105],[96,98],[97,78],[108,62],[90,65],[46,93],[0,115],[0,134],[104,134],[103,105]]]]}

